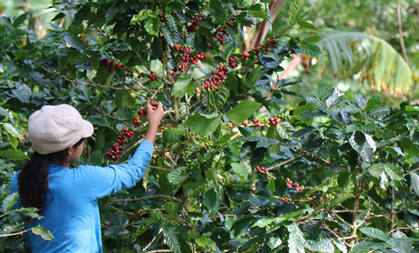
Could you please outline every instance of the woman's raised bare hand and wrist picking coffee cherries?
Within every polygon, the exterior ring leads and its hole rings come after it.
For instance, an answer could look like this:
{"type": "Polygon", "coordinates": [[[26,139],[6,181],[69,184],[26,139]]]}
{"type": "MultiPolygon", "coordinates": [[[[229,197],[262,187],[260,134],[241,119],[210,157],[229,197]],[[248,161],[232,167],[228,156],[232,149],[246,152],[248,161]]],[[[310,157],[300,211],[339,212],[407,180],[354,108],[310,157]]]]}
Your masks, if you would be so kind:
{"type": "Polygon", "coordinates": [[[161,118],[163,118],[164,115],[163,104],[161,102],[149,102],[146,105],[146,109],[146,118],[149,125],[144,139],[154,144],[161,118]]]}

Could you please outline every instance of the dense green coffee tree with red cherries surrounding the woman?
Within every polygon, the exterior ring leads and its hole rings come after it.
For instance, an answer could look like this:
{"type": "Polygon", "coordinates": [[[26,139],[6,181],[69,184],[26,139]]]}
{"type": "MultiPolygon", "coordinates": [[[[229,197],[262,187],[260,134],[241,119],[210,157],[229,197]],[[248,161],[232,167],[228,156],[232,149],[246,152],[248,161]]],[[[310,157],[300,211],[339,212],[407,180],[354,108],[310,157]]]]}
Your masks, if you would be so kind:
{"type": "Polygon", "coordinates": [[[24,250],[6,196],[31,112],[74,105],[95,126],[80,163],[106,166],[129,160],[159,100],[147,173],[100,202],[107,252],[416,250],[419,107],[289,91],[282,61],[316,56],[321,38],[287,35],[316,29],[294,0],[281,33],[247,49],[250,27],[272,24],[269,3],[53,1],[45,38],[30,12],[0,17],[1,249],[24,250]]]}

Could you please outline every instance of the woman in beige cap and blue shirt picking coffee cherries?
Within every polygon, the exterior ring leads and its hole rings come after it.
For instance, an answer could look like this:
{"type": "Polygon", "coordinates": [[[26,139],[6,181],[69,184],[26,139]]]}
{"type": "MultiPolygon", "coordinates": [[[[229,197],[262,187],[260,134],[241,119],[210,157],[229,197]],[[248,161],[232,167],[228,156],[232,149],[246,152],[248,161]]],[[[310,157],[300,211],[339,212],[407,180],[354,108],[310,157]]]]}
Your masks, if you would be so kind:
{"type": "Polygon", "coordinates": [[[161,102],[147,104],[148,130],[127,164],[98,167],[70,164],[82,155],[83,139],[93,125],[70,105],[44,106],[28,120],[31,160],[10,181],[19,192],[17,207],[41,209],[41,220],[24,220],[25,229],[41,224],[54,238],[25,233],[32,252],[102,252],[98,199],[133,187],[140,181],[154,151],[163,117],[161,102]]]}

